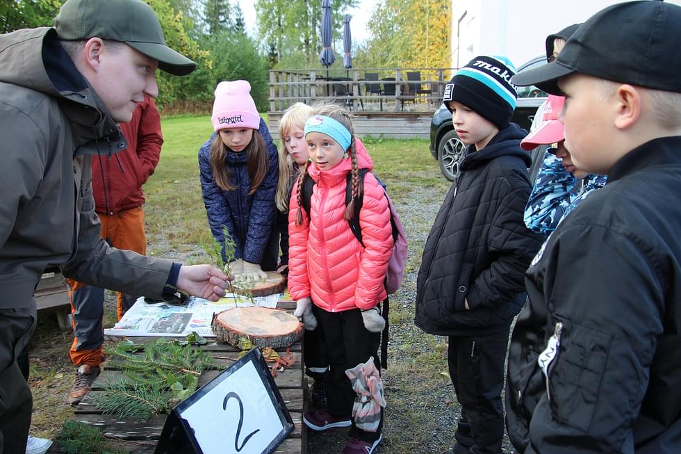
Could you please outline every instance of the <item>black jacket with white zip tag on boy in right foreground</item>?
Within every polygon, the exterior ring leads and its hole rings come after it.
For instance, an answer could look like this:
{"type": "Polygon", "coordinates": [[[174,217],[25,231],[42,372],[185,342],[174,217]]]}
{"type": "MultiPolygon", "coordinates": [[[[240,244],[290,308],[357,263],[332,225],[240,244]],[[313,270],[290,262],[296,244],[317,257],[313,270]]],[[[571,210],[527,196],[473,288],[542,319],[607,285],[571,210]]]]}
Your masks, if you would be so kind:
{"type": "Polygon", "coordinates": [[[680,194],[681,137],[652,140],[532,261],[509,350],[518,451],[681,453],[680,194]]]}

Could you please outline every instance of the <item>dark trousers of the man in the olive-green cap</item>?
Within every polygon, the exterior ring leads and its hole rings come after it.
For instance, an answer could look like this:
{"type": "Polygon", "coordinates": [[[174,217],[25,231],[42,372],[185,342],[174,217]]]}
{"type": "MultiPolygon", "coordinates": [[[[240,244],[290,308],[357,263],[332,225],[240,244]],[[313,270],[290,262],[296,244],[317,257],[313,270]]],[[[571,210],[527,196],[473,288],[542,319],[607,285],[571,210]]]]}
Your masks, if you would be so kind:
{"type": "Polygon", "coordinates": [[[31,427],[31,388],[17,359],[35,329],[35,307],[0,309],[0,453],[25,454],[31,427]]]}

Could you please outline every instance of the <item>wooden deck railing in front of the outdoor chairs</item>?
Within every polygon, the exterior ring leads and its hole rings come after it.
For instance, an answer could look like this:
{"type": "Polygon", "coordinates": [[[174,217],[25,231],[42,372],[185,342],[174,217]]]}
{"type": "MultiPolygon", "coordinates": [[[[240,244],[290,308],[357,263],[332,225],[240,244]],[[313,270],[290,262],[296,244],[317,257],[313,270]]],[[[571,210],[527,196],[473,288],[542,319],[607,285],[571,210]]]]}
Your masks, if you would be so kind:
{"type": "Polygon", "coordinates": [[[353,111],[432,112],[454,68],[271,70],[270,112],[334,99],[353,111]]]}

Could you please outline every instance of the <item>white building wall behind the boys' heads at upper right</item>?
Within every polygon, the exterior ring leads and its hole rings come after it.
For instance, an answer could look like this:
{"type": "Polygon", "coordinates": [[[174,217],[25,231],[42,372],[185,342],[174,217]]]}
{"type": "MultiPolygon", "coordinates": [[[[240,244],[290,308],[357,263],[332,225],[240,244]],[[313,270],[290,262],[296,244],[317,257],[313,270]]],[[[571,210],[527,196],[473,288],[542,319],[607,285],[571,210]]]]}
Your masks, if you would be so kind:
{"type": "MultiPolygon", "coordinates": [[[[681,6],[681,0],[666,1],[681,6]]],[[[452,0],[452,67],[466,65],[478,55],[503,55],[518,67],[534,56],[545,54],[547,35],[584,22],[614,3],[619,2],[452,0]]]]}

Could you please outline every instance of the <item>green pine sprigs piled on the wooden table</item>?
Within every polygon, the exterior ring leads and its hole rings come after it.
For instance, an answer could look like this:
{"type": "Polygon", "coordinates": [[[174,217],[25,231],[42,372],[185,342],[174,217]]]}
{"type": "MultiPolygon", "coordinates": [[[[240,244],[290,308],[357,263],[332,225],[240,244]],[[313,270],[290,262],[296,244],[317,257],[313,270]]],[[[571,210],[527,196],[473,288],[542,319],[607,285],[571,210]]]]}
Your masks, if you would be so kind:
{"type": "Polygon", "coordinates": [[[124,378],[109,382],[103,392],[92,397],[92,404],[108,414],[146,421],[172,407],[196,391],[199,375],[215,368],[210,353],[192,347],[206,339],[192,332],[186,341],[154,339],[141,355],[138,346],[122,341],[106,349],[109,366],[120,368],[124,378]]]}

